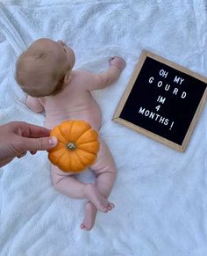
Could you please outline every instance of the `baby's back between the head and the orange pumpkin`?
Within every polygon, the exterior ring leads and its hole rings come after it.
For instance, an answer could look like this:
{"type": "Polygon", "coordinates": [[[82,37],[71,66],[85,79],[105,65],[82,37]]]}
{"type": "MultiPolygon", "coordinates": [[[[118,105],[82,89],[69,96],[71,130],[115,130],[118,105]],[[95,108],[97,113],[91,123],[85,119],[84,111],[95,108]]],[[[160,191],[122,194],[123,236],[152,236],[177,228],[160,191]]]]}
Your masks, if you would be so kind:
{"type": "Polygon", "coordinates": [[[55,96],[40,99],[46,111],[46,128],[66,120],[88,121],[92,128],[101,126],[101,111],[90,91],[84,88],[84,73],[75,71],[71,82],[55,96]]]}

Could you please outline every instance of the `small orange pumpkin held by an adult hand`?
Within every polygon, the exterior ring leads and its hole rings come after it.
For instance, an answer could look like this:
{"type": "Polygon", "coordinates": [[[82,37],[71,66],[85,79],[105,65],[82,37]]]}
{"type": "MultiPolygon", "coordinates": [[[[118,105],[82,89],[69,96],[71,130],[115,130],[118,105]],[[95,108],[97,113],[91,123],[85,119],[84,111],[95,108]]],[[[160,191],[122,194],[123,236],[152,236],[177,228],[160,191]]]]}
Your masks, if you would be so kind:
{"type": "Polygon", "coordinates": [[[57,137],[58,144],[49,150],[49,160],[63,172],[82,172],[95,162],[98,134],[86,121],[63,121],[50,135],[57,137]]]}

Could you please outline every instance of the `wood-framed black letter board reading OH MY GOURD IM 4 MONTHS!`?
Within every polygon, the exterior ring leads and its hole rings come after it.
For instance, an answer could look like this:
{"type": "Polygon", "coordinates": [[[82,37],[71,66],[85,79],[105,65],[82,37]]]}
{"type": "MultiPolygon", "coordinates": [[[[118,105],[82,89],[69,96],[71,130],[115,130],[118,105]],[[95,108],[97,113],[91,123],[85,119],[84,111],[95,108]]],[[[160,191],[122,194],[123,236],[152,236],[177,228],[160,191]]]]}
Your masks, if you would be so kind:
{"type": "Polygon", "coordinates": [[[207,95],[207,79],[146,50],[113,121],[184,151],[207,95]]]}

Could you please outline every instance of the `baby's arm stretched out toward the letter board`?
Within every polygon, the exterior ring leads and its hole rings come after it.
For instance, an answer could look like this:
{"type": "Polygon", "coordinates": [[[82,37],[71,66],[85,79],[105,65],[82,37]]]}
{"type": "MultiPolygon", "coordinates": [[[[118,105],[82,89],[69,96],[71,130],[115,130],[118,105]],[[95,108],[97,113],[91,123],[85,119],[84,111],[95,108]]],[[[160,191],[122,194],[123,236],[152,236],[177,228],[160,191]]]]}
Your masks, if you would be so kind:
{"type": "Polygon", "coordinates": [[[125,69],[125,61],[120,57],[110,59],[110,68],[101,74],[85,72],[85,84],[87,90],[93,91],[103,89],[118,80],[121,72],[125,69]]]}

